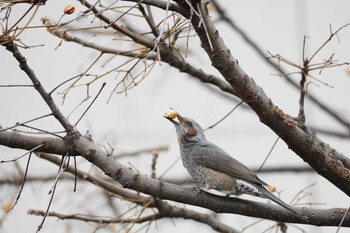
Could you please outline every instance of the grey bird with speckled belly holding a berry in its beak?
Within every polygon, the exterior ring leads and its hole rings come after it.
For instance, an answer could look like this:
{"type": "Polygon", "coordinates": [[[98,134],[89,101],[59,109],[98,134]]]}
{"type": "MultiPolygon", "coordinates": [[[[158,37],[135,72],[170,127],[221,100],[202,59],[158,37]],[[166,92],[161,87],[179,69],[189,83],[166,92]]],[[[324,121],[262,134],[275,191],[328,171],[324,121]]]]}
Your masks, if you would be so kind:
{"type": "Polygon", "coordinates": [[[182,117],[174,110],[170,111],[164,117],[175,125],[182,163],[201,188],[214,189],[227,195],[249,194],[268,198],[301,216],[288,204],[270,193],[265,188],[268,184],[245,165],[217,145],[207,141],[203,129],[194,120],[182,117]],[[176,117],[179,122],[174,120],[176,117]]]}

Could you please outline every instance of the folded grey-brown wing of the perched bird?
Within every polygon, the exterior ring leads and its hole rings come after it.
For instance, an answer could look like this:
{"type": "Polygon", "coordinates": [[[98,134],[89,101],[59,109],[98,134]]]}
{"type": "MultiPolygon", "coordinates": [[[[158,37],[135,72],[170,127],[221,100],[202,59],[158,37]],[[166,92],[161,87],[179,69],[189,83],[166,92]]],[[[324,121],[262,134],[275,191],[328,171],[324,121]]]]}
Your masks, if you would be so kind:
{"type": "Polygon", "coordinates": [[[236,179],[267,185],[251,170],[215,144],[205,143],[191,151],[191,158],[197,164],[230,175],[236,179]]]}

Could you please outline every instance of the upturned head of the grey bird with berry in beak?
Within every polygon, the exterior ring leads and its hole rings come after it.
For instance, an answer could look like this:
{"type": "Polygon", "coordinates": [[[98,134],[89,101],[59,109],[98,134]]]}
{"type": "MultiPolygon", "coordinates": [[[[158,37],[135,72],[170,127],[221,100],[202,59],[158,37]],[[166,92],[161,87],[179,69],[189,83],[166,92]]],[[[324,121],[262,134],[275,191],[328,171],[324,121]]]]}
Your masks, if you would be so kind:
{"type": "Polygon", "coordinates": [[[176,129],[179,142],[199,142],[205,140],[205,135],[202,127],[194,120],[182,117],[173,109],[168,110],[164,117],[171,121],[176,129]],[[176,118],[178,121],[176,121],[176,118]]]}

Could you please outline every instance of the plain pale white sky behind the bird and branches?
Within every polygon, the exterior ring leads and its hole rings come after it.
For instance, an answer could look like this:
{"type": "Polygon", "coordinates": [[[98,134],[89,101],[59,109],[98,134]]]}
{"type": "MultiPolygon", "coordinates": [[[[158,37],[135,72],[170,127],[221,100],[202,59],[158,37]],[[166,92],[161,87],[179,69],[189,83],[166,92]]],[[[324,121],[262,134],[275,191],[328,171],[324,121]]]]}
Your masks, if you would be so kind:
{"type": "MultiPolygon", "coordinates": [[[[306,54],[315,51],[330,34],[329,26],[335,31],[340,26],[349,23],[350,1],[309,0],[309,1],[221,1],[225,5],[227,13],[232,19],[264,50],[273,54],[280,54],[298,64],[301,63],[301,48],[304,35],[308,36],[306,54]],[[229,2],[229,3],[228,3],[229,2]]],[[[39,9],[39,13],[33,20],[34,25],[41,25],[40,17],[48,16],[57,20],[61,16],[65,5],[75,1],[47,1],[45,6],[39,9]],[[50,12],[50,13],[48,13],[50,12]]],[[[13,8],[13,16],[20,16],[26,7],[13,8]],[[18,11],[18,12],[16,12],[18,11]]],[[[3,14],[3,13],[1,13],[3,14]]],[[[163,15],[159,16],[162,17],[163,15]]],[[[215,18],[215,15],[213,15],[215,18]]],[[[227,28],[224,22],[217,23],[220,35],[230,48],[233,56],[239,60],[239,64],[255,81],[264,89],[272,101],[284,112],[296,115],[298,111],[299,93],[285,83],[283,78],[273,76],[275,71],[266,65],[264,61],[237,35],[227,28]]],[[[22,50],[38,78],[47,90],[57,86],[63,80],[73,77],[85,70],[91,61],[97,57],[98,52],[92,49],[81,48],[74,43],[63,43],[57,50],[59,40],[46,32],[45,29],[28,30],[23,33],[22,41],[27,45],[39,45],[28,50],[22,50]]],[[[350,27],[339,33],[339,37],[329,43],[323,50],[318,61],[327,59],[335,53],[335,59],[350,61],[350,27]]],[[[190,48],[200,48],[196,45],[198,40],[190,41],[190,48]]],[[[3,47],[0,47],[0,70],[2,76],[0,84],[29,84],[28,77],[18,69],[18,64],[3,47]]],[[[202,51],[192,56],[197,67],[205,71],[217,74],[211,67],[210,61],[202,51]],[[204,65],[203,65],[204,64],[204,65]]],[[[309,85],[308,91],[322,101],[336,109],[343,117],[350,113],[349,86],[350,77],[346,73],[346,67],[324,71],[321,75],[314,75],[334,88],[325,85],[309,85]]],[[[297,77],[297,80],[299,80],[297,77]]],[[[109,83],[113,83],[110,80],[109,83]]],[[[96,93],[100,83],[92,86],[91,93],[96,93]]],[[[174,127],[162,117],[169,106],[178,110],[182,115],[197,120],[203,128],[215,123],[235,103],[215,95],[208,91],[198,81],[189,78],[170,68],[167,64],[157,64],[151,74],[136,88],[125,95],[113,95],[111,101],[107,100],[112,87],[99,97],[90,109],[83,121],[79,124],[80,132],[89,130],[96,142],[103,145],[110,143],[117,152],[134,151],[142,148],[152,148],[159,145],[168,145],[170,150],[161,153],[157,166],[157,174],[160,175],[179,156],[177,139],[174,127]],[[109,90],[109,91],[107,91],[109,90]]],[[[61,102],[60,95],[54,95],[57,103],[61,102]]],[[[61,106],[65,114],[69,114],[77,104],[85,97],[85,89],[76,89],[68,96],[66,103],[61,106]]],[[[34,117],[48,113],[48,108],[33,89],[1,88],[0,89],[2,127],[14,125],[16,122],[26,121],[34,117]]],[[[86,106],[86,105],[84,105],[86,106]]],[[[310,101],[306,101],[306,119],[310,126],[323,127],[325,129],[341,129],[330,118],[320,112],[310,101]]],[[[70,118],[76,121],[85,107],[81,107],[70,118]]],[[[57,129],[57,123],[52,120],[44,120],[36,124],[38,127],[57,129]]],[[[207,138],[230,152],[236,159],[248,167],[258,167],[269,152],[276,140],[276,135],[266,126],[262,125],[258,118],[250,111],[239,108],[223,123],[206,132],[207,138]]],[[[338,151],[348,155],[350,144],[348,140],[320,135],[320,137],[338,151]]],[[[12,151],[0,148],[1,160],[19,156],[22,151],[12,151]]],[[[80,160],[83,168],[89,165],[80,160]]],[[[132,163],[143,174],[150,174],[151,157],[142,155],[134,160],[122,161],[132,163]]],[[[21,161],[25,167],[25,159],[21,161]]],[[[270,165],[303,165],[303,161],[297,157],[287,146],[280,141],[271,154],[266,166],[270,165]]],[[[4,164],[0,165],[0,177],[11,174],[4,164]]],[[[29,175],[42,174],[42,171],[54,174],[56,167],[45,161],[33,158],[29,175]]],[[[185,169],[179,161],[165,177],[187,177],[185,169]]],[[[262,174],[260,177],[268,183],[277,185],[278,190],[283,190],[281,198],[289,202],[296,193],[306,186],[315,183],[310,189],[311,196],[304,202],[322,203],[315,207],[347,207],[349,198],[330,185],[328,181],[317,175],[305,174],[262,174]]],[[[0,231],[35,232],[40,223],[40,217],[28,216],[28,209],[46,209],[49,196],[48,190],[51,183],[45,185],[27,184],[22,193],[17,207],[5,217],[0,226],[0,231]],[[18,224],[21,223],[21,224],[18,224]]],[[[104,199],[96,198],[95,190],[89,185],[78,184],[78,192],[73,193],[71,182],[62,182],[58,186],[57,194],[51,210],[63,213],[76,213],[96,210],[92,214],[111,216],[110,209],[104,199]],[[91,191],[90,191],[91,189],[91,191]],[[84,197],[81,199],[81,197],[84,197]],[[89,199],[86,199],[89,198],[89,199]]],[[[0,202],[8,201],[9,194],[16,193],[13,187],[0,186],[0,202]]],[[[13,196],[13,195],[11,195],[13,196]]],[[[243,197],[246,198],[246,197],[243,197]]],[[[192,208],[192,207],[188,207],[192,208]]],[[[199,208],[196,208],[199,209],[199,208]]],[[[255,220],[248,217],[235,215],[219,215],[219,218],[228,219],[232,227],[240,229],[255,220]]],[[[201,232],[211,232],[207,226],[192,221],[175,219],[175,225],[170,220],[161,220],[157,228],[151,232],[191,232],[191,227],[201,232]]],[[[68,222],[72,232],[92,232],[93,228],[88,224],[80,223],[76,228],[76,222],[68,222]]],[[[246,232],[261,232],[273,222],[266,221],[248,229],[246,232]]],[[[154,225],[153,225],[154,226],[154,225]]],[[[41,232],[63,232],[66,225],[62,221],[48,218],[41,232]]],[[[308,232],[335,232],[335,228],[321,231],[319,228],[300,226],[308,232]]],[[[101,232],[108,232],[101,231],[101,232]]],[[[290,227],[288,232],[300,232],[290,227]]],[[[350,232],[342,229],[340,232],[350,232]]]]}

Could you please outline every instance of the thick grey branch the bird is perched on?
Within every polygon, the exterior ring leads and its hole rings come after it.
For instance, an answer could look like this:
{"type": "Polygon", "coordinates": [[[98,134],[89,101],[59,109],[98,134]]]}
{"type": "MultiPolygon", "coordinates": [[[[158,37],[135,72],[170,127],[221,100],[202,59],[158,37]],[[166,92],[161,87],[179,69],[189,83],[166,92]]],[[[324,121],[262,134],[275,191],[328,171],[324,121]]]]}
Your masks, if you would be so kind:
{"type": "MultiPolygon", "coordinates": [[[[118,181],[124,188],[133,189],[151,196],[180,203],[211,209],[217,213],[235,213],[245,216],[271,219],[278,222],[312,224],[317,226],[337,226],[346,209],[295,208],[306,216],[308,221],[300,219],[284,208],[239,198],[227,198],[206,192],[184,188],[141,175],[138,171],[118,163],[91,139],[80,136],[75,146],[66,146],[60,138],[25,136],[14,132],[0,132],[0,144],[12,148],[31,149],[45,143],[38,152],[66,155],[66,148],[76,148],[76,153],[99,167],[106,175],[118,181]],[[15,140],[15,142],[13,141],[15,140]]],[[[350,216],[347,216],[344,227],[350,227],[350,216]]]]}

